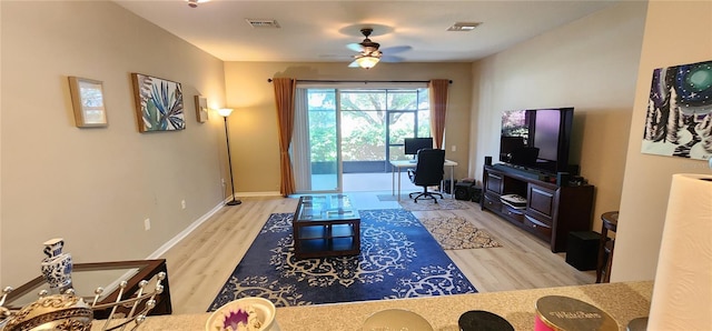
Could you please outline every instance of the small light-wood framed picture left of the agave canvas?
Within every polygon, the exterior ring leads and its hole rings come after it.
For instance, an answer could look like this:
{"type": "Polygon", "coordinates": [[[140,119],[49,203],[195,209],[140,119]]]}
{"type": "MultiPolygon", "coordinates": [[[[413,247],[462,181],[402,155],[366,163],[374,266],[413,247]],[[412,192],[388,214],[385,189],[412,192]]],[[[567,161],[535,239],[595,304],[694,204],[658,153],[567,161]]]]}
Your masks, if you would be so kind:
{"type": "Polygon", "coordinates": [[[103,103],[102,82],[69,77],[69,92],[79,128],[107,127],[107,109],[103,103]]]}

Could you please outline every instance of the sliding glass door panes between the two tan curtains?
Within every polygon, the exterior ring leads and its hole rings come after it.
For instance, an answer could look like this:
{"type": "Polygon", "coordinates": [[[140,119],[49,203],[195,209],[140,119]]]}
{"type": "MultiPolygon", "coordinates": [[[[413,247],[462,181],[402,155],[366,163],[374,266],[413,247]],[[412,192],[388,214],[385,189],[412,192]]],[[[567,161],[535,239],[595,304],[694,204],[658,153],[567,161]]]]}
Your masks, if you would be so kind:
{"type": "Polygon", "coordinates": [[[342,192],[344,173],[389,172],[404,138],[429,134],[425,88],[297,88],[297,192],[342,192]]]}

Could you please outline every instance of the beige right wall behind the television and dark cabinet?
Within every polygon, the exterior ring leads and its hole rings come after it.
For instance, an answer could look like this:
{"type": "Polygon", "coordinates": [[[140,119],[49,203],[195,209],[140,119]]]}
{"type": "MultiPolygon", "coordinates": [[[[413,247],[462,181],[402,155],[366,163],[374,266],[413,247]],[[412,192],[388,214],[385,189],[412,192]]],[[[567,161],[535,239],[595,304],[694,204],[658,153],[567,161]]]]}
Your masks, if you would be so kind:
{"type": "Polygon", "coordinates": [[[595,185],[600,215],[620,207],[645,2],[623,2],[478,61],[471,146],[482,179],[497,160],[504,110],[574,107],[570,162],[595,185]]]}

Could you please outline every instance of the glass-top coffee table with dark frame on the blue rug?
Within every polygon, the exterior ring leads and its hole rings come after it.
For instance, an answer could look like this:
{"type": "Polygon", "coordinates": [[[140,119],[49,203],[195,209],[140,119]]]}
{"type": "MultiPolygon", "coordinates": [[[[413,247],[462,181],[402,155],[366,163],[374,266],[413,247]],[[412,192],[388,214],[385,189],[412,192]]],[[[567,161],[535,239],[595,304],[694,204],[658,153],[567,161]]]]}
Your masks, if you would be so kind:
{"type": "Polygon", "coordinates": [[[291,225],[297,259],[360,252],[360,215],[345,194],[299,198],[291,225]]]}

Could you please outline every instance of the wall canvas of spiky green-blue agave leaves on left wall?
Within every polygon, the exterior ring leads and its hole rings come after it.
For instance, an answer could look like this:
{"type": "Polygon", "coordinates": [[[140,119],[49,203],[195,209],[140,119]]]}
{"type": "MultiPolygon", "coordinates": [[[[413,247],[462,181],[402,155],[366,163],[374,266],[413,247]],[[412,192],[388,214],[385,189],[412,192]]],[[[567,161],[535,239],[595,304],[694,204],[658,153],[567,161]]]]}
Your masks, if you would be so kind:
{"type": "Polygon", "coordinates": [[[131,78],[140,132],[186,128],[180,83],[140,73],[131,73],[131,78]]]}

